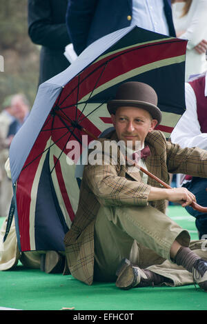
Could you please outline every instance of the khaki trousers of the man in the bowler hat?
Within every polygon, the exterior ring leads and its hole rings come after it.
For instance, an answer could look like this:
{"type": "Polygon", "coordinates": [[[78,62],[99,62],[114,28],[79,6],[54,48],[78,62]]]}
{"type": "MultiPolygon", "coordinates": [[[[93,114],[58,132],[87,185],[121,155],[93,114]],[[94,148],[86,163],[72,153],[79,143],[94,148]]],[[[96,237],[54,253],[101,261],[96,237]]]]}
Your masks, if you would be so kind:
{"type": "MultiPolygon", "coordinates": [[[[187,230],[150,205],[146,207],[101,207],[95,224],[95,281],[115,281],[123,258],[173,281],[193,283],[193,276],[172,263],[170,247],[175,239],[207,259],[203,241],[190,242],[187,230]]],[[[169,285],[169,283],[168,283],[169,285]]]]}

